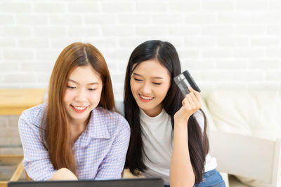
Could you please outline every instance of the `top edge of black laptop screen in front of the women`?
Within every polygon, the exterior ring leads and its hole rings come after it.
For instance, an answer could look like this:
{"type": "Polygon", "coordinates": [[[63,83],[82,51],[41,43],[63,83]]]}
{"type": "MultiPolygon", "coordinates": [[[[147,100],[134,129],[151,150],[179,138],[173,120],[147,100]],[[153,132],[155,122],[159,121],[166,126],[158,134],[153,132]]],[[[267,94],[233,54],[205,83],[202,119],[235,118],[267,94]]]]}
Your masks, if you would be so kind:
{"type": "Polygon", "coordinates": [[[8,187],[163,187],[163,179],[110,179],[79,181],[11,181],[8,187]]]}

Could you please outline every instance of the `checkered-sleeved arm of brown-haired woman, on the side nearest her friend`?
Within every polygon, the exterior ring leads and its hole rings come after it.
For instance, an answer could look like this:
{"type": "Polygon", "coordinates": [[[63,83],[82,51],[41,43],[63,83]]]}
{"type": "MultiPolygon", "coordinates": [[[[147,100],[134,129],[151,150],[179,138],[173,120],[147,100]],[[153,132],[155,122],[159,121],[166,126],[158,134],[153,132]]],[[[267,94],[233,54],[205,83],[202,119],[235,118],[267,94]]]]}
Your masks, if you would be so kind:
{"type": "Polygon", "coordinates": [[[117,131],[110,151],[100,164],[96,179],[121,178],[130,140],[130,127],[123,117],[120,117],[117,131]]]}

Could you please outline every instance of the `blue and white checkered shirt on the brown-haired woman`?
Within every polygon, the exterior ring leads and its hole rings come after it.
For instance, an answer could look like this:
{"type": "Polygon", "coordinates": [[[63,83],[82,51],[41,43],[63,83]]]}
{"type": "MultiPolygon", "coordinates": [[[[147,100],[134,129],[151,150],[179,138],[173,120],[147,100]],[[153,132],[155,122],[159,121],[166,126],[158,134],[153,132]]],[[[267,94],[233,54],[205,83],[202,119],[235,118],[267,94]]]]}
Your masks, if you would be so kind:
{"type": "MultiPolygon", "coordinates": [[[[40,104],[23,111],[18,122],[23,165],[35,181],[50,179],[56,172],[41,141],[41,127],[45,125],[41,121],[46,106],[40,104]]],[[[78,178],[120,178],[129,139],[129,123],[119,113],[101,107],[93,109],[89,124],[73,146],[78,178]]]]}

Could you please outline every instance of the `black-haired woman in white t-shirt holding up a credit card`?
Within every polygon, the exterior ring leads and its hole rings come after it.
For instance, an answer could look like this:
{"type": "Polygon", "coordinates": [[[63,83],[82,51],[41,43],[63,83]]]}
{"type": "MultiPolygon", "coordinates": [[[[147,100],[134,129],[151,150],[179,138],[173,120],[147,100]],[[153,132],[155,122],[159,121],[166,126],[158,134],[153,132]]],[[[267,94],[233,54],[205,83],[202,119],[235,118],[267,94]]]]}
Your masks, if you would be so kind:
{"type": "Polygon", "coordinates": [[[131,126],[125,167],[132,174],[162,177],[165,186],[225,186],[209,152],[200,93],[183,96],[174,83],[181,74],[169,42],[141,43],[129,58],[124,113],[131,126]]]}

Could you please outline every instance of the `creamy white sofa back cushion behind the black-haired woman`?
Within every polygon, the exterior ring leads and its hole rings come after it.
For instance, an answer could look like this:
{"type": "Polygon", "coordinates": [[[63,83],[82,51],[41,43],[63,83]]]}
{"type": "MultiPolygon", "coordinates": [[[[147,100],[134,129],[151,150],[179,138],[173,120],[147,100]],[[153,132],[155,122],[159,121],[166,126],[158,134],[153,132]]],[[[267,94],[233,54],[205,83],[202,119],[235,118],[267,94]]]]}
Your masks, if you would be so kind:
{"type": "Polygon", "coordinates": [[[205,101],[218,130],[281,138],[280,90],[213,90],[205,101]]]}

